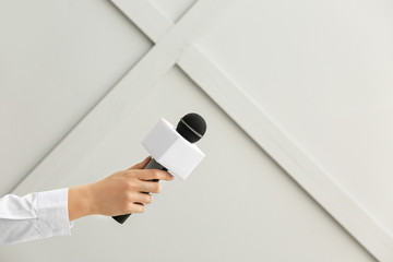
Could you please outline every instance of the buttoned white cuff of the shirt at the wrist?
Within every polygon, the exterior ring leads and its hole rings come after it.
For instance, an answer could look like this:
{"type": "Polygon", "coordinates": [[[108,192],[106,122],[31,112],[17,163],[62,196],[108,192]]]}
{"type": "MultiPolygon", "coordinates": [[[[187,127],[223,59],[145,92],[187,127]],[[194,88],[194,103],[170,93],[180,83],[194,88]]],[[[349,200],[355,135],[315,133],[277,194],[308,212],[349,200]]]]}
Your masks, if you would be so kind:
{"type": "Polygon", "coordinates": [[[38,228],[43,238],[71,236],[68,188],[38,192],[38,228]]]}

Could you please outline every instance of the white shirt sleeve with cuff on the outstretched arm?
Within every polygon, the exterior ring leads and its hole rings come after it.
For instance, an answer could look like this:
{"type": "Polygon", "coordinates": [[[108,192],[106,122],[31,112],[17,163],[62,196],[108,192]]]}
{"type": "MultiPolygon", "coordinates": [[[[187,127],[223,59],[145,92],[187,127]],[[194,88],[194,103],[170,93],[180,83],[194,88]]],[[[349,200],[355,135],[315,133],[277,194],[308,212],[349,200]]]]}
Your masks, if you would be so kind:
{"type": "Polygon", "coordinates": [[[0,245],[70,236],[68,188],[0,199],[0,245]]]}

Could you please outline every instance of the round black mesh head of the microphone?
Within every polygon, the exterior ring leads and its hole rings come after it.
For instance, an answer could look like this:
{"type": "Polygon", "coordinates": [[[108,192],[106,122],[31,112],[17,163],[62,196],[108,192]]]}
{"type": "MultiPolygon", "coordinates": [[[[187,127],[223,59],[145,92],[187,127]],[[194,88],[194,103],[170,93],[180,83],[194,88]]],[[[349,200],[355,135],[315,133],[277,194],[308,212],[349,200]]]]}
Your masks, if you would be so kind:
{"type": "Polygon", "coordinates": [[[190,143],[195,143],[206,132],[206,122],[200,115],[190,112],[180,119],[176,131],[190,143]]]}

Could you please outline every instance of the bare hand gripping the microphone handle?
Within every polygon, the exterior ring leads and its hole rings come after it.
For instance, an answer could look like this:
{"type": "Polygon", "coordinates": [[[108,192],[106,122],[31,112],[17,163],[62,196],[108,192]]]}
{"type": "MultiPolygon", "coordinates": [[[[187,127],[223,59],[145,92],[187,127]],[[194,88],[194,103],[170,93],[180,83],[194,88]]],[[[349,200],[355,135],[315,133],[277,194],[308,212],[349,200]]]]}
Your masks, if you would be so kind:
{"type": "Polygon", "coordinates": [[[129,169],[115,172],[98,182],[70,188],[70,221],[87,215],[116,216],[143,213],[145,204],[153,202],[153,195],[148,193],[162,191],[159,182],[148,180],[174,179],[174,176],[167,171],[143,169],[151,159],[147,157],[129,169]]]}

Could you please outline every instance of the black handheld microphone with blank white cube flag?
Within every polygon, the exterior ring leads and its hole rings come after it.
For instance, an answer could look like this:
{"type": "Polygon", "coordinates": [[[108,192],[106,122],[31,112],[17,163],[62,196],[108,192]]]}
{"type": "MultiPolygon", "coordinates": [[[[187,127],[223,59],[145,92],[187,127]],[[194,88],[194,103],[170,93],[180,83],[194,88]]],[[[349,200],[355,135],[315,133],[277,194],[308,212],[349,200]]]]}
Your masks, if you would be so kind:
{"type": "MultiPolygon", "coordinates": [[[[202,139],[206,128],[205,120],[195,112],[183,116],[176,130],[168,121],[162,119],[142,142],[153,156],[144,169],[169,169],[184,180],[205,156],[193,143],[202,139]]],[[[158,182],[158,179],[151,181],[158,182]]],[[[112,218],[123,224],[130,215],[118,215],[112,218]]]]}

